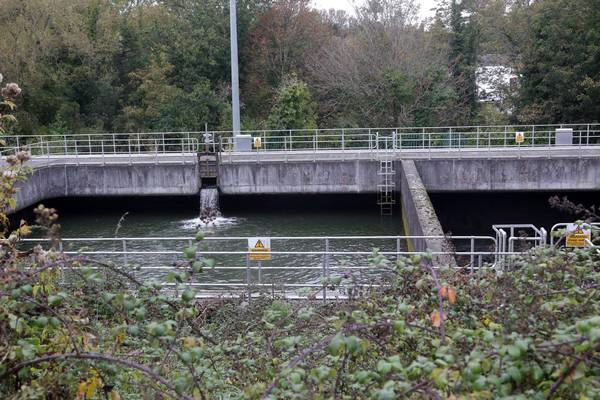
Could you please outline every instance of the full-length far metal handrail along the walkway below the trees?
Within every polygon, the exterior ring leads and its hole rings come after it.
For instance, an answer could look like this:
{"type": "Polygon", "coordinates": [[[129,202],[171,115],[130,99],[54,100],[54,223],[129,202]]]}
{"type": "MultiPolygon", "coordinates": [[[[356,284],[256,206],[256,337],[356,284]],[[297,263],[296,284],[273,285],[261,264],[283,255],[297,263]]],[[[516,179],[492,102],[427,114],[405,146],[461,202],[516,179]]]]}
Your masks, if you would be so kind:
{"type": "MultiPolygon", "coordinates": [[[[554,146],[557,128],[573,129],[573,146],[590,147],[600,145],[600,123],[590,124],[553,124],[553,125],[481,125],[481,126],[441,126],[441,127],[388,127],[388,128],[328,128],[328,129],[285,129],[250,130],[242,134],[258,136],[263,139],[260,151],[299,151],[299,150],[345,150],[380,149],[380,138],[392,138],[390,150],[438,148],[491,149],[491,148],[529,148],[554,146]],[[526,132],[523,144],[515,143],[514,133],[526,132]]],[[[221,151],[232,151],[233,132],[231,131],[181,131],[181,132],[128,132],[128,133],[91,133],[63,135],[18,135],[6,136],[7,147],[20,148],[28,143],[74,142],[76,147],[85,143],[103,142],[109,144],[116,140],[139,142],[150,139],[164,141],[165,137],[177,139],[195,139],[204,143],[203,136],[210,134],[214,143],[220,144],[221,151]]],[[[211,142],[212,144],[213,142],[211,142]]]]}

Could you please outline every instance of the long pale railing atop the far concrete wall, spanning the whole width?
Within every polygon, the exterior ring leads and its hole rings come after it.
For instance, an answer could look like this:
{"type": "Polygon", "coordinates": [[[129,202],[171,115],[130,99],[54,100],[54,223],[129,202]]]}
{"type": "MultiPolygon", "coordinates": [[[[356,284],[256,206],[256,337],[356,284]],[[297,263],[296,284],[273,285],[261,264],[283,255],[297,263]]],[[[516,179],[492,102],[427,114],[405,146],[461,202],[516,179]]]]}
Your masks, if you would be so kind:
{"type": "MultiPolygon", "coordinates": [[[[536,150],[539,156],[552,157],[569,149],[572,155],[589,156],[600,147],[600,124],[502,125],[451,127],[343,128],[311,130],[252,130],[242,132],[261,139],[252,154],[289,153],[316,155],[322,152],[357,153],[375,157],[377,152],[393,151],[408,156],[432,157],[449,151],[458,157],[476,152],[479,156],[497,156],[495,151],[523,154],[536,150]],[[573,129],[570,146],[556,145],[556,129],[573,129]],[[515,133],[525,140],[517,143],[515,133]],[[579,151],[577,151],[579,150],[579,151]]],[[[198,151],[221,152],[222,160],[234,151],[230,131],[189,131],[150,133],[98,133],[5,136],[2,155],[27,148],[32,155],[43,157],[85,155],[118,156],[122,154],[185,154],[198,151]]],[[[239,154],[239,153],[238,153],[239,154]]],[[[597,156],[597,154],[595,154],[597,156]]]]}

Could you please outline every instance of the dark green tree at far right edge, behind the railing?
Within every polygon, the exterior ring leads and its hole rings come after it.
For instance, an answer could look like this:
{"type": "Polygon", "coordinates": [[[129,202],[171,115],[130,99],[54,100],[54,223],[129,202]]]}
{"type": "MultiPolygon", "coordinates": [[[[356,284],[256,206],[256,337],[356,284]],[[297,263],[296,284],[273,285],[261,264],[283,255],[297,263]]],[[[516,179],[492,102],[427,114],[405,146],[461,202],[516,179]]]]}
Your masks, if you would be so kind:
{"type": "Polygon", "coordinates": [[[531,6],[530,41],[520,70],[518,118],[527,123],[600,118],[600,11],[595,0],[531,6]],[[569,9],[569,12],[565,12],[569,9]]]}

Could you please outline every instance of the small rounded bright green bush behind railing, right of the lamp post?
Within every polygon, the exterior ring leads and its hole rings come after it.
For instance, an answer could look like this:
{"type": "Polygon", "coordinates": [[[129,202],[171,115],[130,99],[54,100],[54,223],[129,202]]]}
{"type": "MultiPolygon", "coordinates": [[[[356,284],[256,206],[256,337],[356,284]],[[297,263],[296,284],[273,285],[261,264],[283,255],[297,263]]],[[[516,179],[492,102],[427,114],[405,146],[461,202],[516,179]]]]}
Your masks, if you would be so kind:
{"type": "Polygon", "coordinates": [[[316,103],[308,85],[295,76],[286,79],[278,89],[267,123],[271,129],[316,128],[316,103]]]}

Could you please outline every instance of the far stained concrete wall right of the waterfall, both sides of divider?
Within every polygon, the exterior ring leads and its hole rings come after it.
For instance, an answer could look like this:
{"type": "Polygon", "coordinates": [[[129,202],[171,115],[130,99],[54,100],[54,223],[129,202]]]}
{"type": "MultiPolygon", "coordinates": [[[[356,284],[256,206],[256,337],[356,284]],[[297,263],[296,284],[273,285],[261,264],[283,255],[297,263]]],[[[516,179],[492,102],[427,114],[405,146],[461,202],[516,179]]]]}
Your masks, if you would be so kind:
{"type": "MultiPolygon", "coordinates": [[[[425,188],[443,191],[600,190],[600,157],[415,161],[425,188]]],[[[219,166],[225,194],[376,193],[379,163],[241,162],[219,166]]],[[[394,163],[396,171],[401,161],[394,163]]],[[[396,176],[400,187],[400,175],[396,176]]]]}

